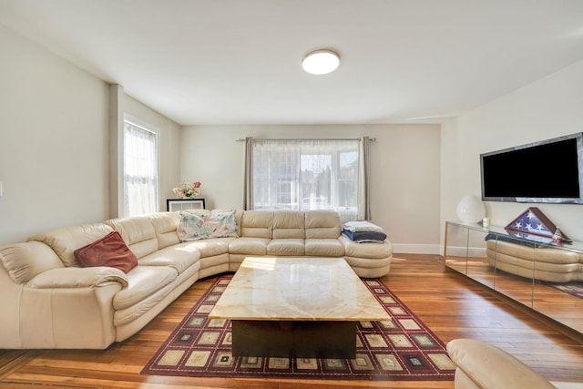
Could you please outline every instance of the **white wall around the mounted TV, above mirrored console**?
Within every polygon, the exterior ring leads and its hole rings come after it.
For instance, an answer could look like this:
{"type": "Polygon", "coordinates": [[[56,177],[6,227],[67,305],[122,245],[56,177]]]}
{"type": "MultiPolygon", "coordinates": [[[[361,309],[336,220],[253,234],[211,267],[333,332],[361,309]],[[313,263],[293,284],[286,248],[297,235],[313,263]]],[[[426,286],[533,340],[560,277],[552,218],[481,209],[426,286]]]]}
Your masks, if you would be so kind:
{"type": "MultiPolygon", "coordinates": [[[[479,154],[583,131],[583,61],[442,126],[442,226],[457,220],[465,194],[480,196],[479,154]]],[[[548,156],[547,163],[553,163],[548,156]]],[[[583,241],[583,206],[488,201],[492,224],[505,226],[537,207],[571,239],[583,241]]],[[[442,232],[443,233],[443,232],[442,232]]]]}

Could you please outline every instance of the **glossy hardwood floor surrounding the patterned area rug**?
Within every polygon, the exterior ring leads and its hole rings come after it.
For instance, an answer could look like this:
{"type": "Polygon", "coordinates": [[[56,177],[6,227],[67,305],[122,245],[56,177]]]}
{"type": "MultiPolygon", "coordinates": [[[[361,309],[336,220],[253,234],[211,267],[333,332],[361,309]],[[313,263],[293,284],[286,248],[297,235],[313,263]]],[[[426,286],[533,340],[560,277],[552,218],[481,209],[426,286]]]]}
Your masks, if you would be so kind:
{"type": "MultiPolygon", "coordinates": [[[[517,356],[551,381],[583,385],[583,336],[490,292],[432,255],[395,254],[383,282],[445,343],[474,338],[517,356]]],[[[105,351],[0,351],[0,387],[37,388],[454,388],[453,382],[352,382],[215,379],[140,375],[139,372],[212,278],[196,282],[154,321],[105,351]]],[[[583,314],[583,312],[581,312],[583,314]]]]}

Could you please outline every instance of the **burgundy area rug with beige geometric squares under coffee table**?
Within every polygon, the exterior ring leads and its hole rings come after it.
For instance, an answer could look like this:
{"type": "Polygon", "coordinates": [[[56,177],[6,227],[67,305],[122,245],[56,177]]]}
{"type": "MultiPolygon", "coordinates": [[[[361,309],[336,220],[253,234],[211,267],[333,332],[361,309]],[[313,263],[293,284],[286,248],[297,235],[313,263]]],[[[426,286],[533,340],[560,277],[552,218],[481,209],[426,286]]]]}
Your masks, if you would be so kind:
{"type": "Polygon", "coordinates": [[[358,322],[355,359],[233,357],[229,320],[208,315],[232,275],[199,299],[141,374],[371,381],[453,380],[445,344],[378,280],[363,280],[392,317],[358,322]]]}

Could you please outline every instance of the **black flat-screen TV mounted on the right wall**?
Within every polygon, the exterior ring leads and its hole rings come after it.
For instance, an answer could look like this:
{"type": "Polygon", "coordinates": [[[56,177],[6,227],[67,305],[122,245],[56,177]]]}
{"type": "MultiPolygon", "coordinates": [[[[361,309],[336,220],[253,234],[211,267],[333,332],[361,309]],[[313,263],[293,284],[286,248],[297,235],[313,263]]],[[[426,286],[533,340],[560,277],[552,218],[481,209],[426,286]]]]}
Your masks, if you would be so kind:
{"type": "Polygon", "coordinates": [[[583,132],[480,155],[482,200],[583,203],[583,132]]]}

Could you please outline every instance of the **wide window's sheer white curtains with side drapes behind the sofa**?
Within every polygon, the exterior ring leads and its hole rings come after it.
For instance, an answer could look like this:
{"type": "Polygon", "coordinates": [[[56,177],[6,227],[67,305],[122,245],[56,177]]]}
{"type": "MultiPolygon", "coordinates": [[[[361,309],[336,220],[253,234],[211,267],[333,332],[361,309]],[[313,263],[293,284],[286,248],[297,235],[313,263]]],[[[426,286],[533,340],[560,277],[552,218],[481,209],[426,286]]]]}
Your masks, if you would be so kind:
{"type": "Polygon", "coordinates": [[[343,221],[364,220],[363,139],[246,138],[246,209],[336,210],[343,221]]]}

